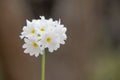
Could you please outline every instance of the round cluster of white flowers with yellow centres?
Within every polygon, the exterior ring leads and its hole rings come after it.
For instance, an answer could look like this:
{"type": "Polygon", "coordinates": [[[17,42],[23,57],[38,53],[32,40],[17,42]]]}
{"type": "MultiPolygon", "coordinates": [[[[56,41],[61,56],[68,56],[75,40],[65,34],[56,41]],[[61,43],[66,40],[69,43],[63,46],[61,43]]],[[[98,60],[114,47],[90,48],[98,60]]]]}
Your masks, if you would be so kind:
{"type": "Polygon", "coordinates": [[[53,52],[60,47],[60,44],[65,44],[66,27],[60,24],[59,21],[53,21],[52,18],[35,19],[31,22],[27,20],[27,25],[23,27],[20,38],[24,39],[25,48],[24,53],[29,53],[31,56],[36,57],[43,54],[43,51],[48,48],[49,52],[53,52]]]}

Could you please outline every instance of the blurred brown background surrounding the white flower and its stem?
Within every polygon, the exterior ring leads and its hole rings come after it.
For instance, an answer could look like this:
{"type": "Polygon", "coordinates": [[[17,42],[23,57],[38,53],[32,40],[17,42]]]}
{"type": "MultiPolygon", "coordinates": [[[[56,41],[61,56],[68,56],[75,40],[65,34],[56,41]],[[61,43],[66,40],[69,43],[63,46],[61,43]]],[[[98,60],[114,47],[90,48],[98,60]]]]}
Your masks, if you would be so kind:
{"type": "Polygon", "coordinates": [[[24,54],[19,38],[41,15],[68,29],[46,53],[46,80],[120,80],[120,0],[0,0],[0,80],[41,79],[41,56],[24,54]]]}

